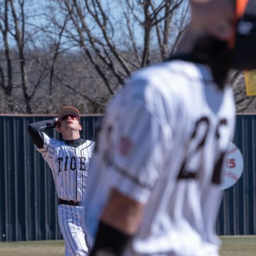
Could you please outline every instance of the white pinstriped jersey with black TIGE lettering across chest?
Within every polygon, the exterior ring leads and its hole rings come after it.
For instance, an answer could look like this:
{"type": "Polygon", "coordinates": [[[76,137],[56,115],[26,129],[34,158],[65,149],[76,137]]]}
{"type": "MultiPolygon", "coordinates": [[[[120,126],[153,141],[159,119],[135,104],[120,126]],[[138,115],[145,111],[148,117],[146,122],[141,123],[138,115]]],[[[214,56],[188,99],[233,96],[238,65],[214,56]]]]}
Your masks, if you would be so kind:
{"type": "Polygon", "coordinates": [[[82,201],[94,142],[86,140],[75,148],[45,133],[43,135],[44,147],[37,148],[37,151],[52,170],[58,197],[82,201]]]}

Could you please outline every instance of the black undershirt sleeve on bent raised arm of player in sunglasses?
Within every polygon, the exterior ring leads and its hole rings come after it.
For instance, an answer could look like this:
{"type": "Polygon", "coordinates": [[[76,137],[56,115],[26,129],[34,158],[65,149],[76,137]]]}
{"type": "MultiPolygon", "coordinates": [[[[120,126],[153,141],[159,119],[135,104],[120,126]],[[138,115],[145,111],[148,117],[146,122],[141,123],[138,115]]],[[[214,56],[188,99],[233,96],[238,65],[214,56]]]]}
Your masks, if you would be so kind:
{"type": "Polygon", "coordinates": [[[42,132],[56,126],[55,120],[44,120],[35,123],[30,123],[28,126],[28,132],[38,148],[44,147],[44,135],[42,132]]]}

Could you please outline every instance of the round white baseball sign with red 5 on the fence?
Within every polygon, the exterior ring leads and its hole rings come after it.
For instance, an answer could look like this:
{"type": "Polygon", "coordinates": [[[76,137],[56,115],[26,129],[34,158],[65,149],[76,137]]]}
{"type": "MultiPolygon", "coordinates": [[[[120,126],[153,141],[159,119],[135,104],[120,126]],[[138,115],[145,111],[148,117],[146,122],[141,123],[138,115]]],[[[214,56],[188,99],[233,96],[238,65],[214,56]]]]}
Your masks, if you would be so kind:
{"type": "Polygon", "coordinates": [[[228,150],[225,155],[225,168],[222,173],[221,188],[226,189],[240,179],[244,169],[244,160],[239,148],[232,142],[229,142],[228,150]]]}

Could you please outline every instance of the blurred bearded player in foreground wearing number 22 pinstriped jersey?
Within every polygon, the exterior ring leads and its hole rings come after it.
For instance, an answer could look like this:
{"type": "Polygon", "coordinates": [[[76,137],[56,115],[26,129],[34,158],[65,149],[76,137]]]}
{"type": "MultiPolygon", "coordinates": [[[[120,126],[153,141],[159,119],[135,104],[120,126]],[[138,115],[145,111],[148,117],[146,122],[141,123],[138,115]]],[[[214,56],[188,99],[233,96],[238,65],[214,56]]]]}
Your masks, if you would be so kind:
{"type": "Polygon", "coordinates": [[[107,109],[84,200],[90,255],[218,255],[235,9],[232,0],[191,1],[177,55],[136,72],[107,109]]]}

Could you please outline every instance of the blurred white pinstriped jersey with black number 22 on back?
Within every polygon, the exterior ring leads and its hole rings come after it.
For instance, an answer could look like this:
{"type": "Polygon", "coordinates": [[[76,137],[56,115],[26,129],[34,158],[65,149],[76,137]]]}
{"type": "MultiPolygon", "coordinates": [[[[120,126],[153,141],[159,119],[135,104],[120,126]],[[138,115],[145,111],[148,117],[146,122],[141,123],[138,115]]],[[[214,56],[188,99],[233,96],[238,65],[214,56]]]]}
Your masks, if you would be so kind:
{"type": "Polygon", "coordinates": [[[229,86],[202,64],[172,60],[137,72],[110,104],[84,200],[95,236],[112,188],[145,204],[125,255],[218,255],[224,152],[234,130],[229,86]]]}

